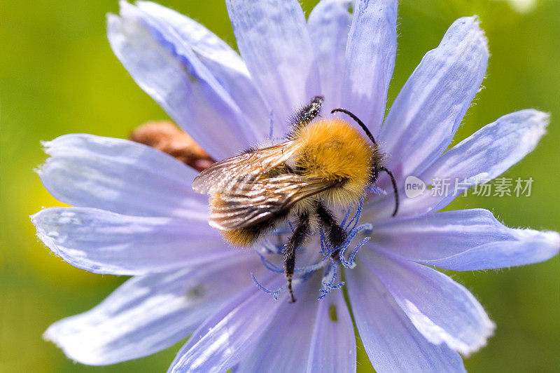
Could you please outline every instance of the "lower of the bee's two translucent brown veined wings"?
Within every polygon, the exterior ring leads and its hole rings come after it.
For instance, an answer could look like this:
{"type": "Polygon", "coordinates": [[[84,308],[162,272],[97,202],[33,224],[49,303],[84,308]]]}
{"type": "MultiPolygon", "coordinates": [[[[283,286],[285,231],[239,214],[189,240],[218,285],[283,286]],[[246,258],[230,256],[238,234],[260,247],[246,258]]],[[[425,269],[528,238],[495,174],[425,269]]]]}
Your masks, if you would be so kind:
{"type": "Polygon", "coordinates": [[[291,174],[236,184],[213,196],[209,224],[224,231],[251,226],[287,212],[297,201],[335,184],[291,174]]]}

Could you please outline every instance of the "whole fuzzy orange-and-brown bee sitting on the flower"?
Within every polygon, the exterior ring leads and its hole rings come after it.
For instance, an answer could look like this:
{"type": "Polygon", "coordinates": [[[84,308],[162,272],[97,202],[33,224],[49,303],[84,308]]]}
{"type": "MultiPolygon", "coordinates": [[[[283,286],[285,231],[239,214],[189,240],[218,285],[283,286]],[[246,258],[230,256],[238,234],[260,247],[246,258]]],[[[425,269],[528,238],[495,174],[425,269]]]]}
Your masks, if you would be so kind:
{"type": "MultiPolygon", "coordinates": [[[[195,191],[210,194],[209,224],[231,245],[251,246],[286,220],[295,223],[283,247],[290,303],[295,301],[292,278],[297,247],[318,229],[323,229],[332,247],[346,240],[347,233],[330,206],[356,205],[379,172],[386,172],[395,191],[393,216],[398,211],[395,178],[381,165],[384,154],[370,130],[342,108],[331,113],[350,116],[370,142],[342,118],[317,117],[322,103],[323,97],[316,96],[297,111],[285,142],[214,163],[193,182],[195,191]]],[[[335,250],[332,257],[337,255],[335,250]]]]}

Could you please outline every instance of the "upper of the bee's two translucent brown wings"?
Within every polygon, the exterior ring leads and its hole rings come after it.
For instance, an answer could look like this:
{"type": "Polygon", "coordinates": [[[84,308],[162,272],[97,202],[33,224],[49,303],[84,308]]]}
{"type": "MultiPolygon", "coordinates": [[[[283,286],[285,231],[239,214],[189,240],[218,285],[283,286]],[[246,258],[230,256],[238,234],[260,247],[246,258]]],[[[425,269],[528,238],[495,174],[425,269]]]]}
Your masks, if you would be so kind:
{"type": "Polygon", "coordinates": [[[272,168],[285,163],[293,155],[293,141],[283,142],[224,159],[200,172],[193,189],[202,194],[220,193],[235,184],[248,184],[272,168]]]}

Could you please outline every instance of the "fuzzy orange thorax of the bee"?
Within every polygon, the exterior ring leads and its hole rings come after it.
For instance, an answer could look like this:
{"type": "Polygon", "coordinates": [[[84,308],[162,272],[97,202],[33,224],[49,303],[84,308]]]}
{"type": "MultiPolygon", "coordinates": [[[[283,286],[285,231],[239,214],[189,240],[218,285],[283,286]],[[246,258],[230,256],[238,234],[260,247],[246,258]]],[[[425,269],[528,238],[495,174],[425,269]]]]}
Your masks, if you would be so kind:
{"type": "Polygon", "coordinates": [[[302,175],[342,182],[321,194],[327,203],[358,202],[370,184],[372,165],[380,161],[377,148],[358,129],[339,118],[319,119],[295,130],[292,138],[302,175]]]}

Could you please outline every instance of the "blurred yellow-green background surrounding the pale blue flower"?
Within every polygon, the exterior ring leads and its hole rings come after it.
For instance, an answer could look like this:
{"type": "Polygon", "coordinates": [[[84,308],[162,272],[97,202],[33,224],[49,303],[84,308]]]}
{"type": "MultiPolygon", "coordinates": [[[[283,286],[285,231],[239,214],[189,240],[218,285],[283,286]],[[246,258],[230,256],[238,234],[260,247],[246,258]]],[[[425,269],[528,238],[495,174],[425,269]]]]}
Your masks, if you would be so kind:
{"type": "MultiPolygon", "coordinates": [[[[232,46],[221,0],[165,0],[232,46]]],[[[316,1],[304,1],[307,14],[316,1]]],[[[61,205],[32,171],[45,158],[40,140],[64,133],[127,137],[152,119],[167,118],[111,52],[106,13],[116,0],[0,0],[1,100],[1,372],[129,372],[167,369],[181,344],[110,367],[74,364],[43,331],[59,318],[91,308],[125,278],[75,269],[38,243],[29,215],[61,205]]],[[[450,208],[489,208],[509,226],[560,230],[560,2],[402,0],[391,102],[423,53],[454,19],[477,14],[491,59],[484,87],[458,131],[460,140],[510,111],[552,113],[538,148],[506,177],[533,177],[530,197],[460,197],[450,208]],[[519,5],[521,4],[521,5],[519,5]]],[[[488,346],[465,360],[472,372],[552,372],[560,367],[560,261],[502,271],[452,273],[496,322],[488,346]]],[[[358,345],[358,371],[371,365],[358,345]]]]}

